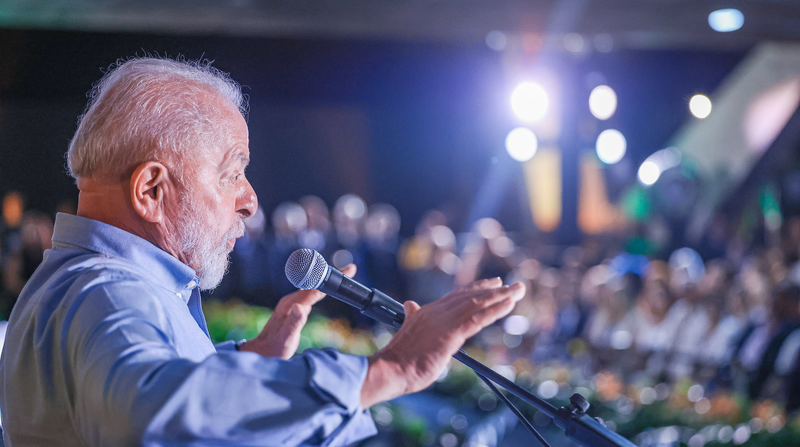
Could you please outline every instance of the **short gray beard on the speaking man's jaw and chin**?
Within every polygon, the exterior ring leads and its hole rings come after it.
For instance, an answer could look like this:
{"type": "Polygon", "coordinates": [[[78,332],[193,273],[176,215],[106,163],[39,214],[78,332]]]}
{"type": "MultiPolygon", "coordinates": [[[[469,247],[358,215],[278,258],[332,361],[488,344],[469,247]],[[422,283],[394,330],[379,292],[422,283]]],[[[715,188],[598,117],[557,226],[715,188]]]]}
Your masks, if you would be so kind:
{"type": "Polygon", "coordinates": [[[200,278],[200,290],[217,288],[230,265],[228,241],[244,233],[244,222],[236,221],[221,240],[209,234],[207,222],[203,218],[213,219],[207,213],[197,210],[189,200],[182,200],[180,221],[175,227],[178,244],[186,256],[189,266],[195,268],[200,278]],[[215,245],[216,244],[216,245],[215,245]]]}

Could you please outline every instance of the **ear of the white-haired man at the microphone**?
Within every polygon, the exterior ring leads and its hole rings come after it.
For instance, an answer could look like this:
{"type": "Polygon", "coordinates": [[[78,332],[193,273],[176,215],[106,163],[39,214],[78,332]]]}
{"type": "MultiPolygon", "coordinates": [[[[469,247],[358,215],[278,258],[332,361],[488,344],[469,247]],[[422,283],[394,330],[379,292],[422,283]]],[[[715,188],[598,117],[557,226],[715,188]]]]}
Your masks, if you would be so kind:
{"type": "Polygon", "coordinates": [[[131,203],[142,218],[151,223],[164,219],[165,202],[174,193],[166,166],[157,161],[140,164],[131,175],[131,203]]]}

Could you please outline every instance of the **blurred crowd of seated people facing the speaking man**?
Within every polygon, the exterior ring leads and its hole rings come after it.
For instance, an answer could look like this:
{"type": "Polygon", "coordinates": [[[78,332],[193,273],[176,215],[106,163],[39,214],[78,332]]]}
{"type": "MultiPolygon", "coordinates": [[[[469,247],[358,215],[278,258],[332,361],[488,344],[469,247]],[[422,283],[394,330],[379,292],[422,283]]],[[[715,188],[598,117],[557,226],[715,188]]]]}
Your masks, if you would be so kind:
{"type": "MultiPolygon", "coordinates": [[[[0,312],[7,318],[49,247],[52,220],[23,212],[15,193],[3,208],[0,312]]],[[[800,220],[787,222],[780,248],[736,261],[704,261],[690,248],[651,260],[591,238],[580,247],[547,246],[519,240],[491,218],[456,233],[439,211],[426,213],[413,235],[401,239],[394,207],[352,194],[331,209],[315,196],[270,214],[259,208],[245,223],[229,274],[212,298],[274,306],[294,290],[284,264],[301,247],[337,268],[356,264],[358,281],[400,301],[425,304],[478,278],[523,281],[527,296],[512,315],[471,340],[489,362],[580,362],[589,374],[613,371],[627,382],[689,378],[708,390],[800,407],[800,220]]],[[[315,308],[372,325],[336,300],[315,308]]]]}

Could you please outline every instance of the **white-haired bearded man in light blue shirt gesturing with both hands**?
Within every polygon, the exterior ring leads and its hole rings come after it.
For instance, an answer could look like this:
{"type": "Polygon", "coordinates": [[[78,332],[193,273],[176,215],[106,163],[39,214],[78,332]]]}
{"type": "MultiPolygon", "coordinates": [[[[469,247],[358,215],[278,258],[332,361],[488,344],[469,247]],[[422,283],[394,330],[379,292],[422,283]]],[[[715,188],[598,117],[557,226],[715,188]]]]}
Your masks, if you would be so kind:
{"type": "Polygon", "coordinates": [[[298,291],[256,338],[214,346],[200,290],[219,284],[257,206],[245,111],[207,63],[131,59],[95,86],[68,152],[78,213],[57,216],[9,321],[6,446],[350,444],[375,433],[367,408],[430,385],[523,296],[493,279],[409,301],[365,358],[294,355],[324,296],[298,291]]]}

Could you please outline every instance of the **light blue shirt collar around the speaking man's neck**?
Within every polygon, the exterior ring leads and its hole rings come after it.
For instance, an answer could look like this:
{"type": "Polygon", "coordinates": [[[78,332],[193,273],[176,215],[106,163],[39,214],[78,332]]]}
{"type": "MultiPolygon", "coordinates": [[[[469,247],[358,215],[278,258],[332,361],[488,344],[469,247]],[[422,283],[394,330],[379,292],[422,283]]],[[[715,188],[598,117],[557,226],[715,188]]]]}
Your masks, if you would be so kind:
{"type": "Polygon", "coordinates": [[[197,287],[194,269],[135,234],[97,220],[58,213],[53,228],[53,248],[71,245],[96,253],[126,259],[140,266],[164,287],[178,294],[197,287]]]}

